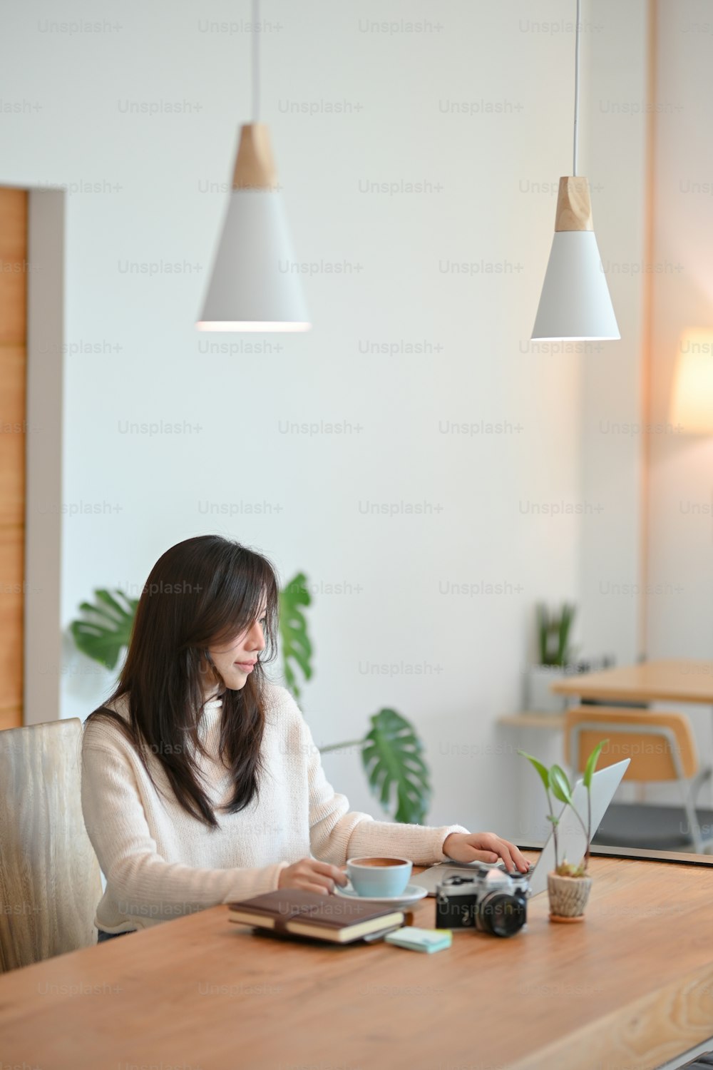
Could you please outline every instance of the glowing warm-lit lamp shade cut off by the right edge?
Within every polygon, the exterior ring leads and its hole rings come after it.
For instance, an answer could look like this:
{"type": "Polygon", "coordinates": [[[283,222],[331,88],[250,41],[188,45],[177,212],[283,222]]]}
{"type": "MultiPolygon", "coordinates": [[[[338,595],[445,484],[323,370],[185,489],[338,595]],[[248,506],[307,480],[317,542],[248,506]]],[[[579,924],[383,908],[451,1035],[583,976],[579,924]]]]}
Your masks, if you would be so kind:
{"type": "Polygon", "coordinates": [[[713,434],[713,331],[681,335],[670,422],[687,434],[713,434]]]}

